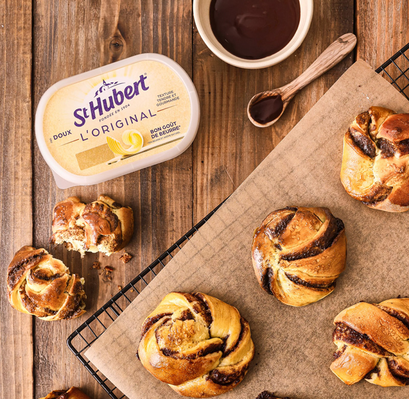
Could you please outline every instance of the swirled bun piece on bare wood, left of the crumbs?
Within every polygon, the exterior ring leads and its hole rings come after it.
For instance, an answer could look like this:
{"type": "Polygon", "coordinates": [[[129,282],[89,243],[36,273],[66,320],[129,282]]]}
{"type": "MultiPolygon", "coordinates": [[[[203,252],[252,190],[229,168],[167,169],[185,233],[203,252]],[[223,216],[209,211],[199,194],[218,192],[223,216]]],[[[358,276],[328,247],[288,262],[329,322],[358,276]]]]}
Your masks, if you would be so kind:
{"type": "Polygon", "coordinates": [[[72,319],[85,313],[84,279],[44,248],[23,246],[7,269],[11,306],[43,320],[72,319]]]}

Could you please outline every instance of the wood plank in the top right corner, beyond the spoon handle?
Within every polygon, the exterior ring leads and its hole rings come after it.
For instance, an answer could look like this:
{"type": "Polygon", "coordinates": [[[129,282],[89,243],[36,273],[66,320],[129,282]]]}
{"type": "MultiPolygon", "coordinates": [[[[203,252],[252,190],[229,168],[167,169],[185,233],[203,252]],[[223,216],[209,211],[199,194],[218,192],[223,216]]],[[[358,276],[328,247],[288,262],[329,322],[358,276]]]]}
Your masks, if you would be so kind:
{"type": "Polygon", "coordinates": [[[356,36],[357,58],[376,69],[409,42],[408,2],[357,0],[356,36]]]}

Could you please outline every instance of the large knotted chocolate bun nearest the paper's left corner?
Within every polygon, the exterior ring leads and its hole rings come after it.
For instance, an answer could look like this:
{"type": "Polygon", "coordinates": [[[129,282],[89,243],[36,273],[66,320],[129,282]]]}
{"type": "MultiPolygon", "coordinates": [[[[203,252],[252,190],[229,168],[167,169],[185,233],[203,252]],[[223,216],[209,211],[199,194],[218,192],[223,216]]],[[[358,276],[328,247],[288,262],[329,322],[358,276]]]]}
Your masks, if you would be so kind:
{"type": "Polygon", "coordinates": [[[235,307],[200,292],[171,292],[145,319],[137,356],[180,395],[211,397],[241,382],[254,344],[235,307]]]}

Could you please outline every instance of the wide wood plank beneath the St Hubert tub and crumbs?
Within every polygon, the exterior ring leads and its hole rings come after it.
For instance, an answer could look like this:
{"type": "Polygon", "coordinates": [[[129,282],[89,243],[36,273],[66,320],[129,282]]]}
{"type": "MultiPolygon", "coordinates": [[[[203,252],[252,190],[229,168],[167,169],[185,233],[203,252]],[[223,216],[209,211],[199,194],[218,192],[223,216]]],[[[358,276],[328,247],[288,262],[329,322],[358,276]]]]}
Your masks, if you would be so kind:
{"type": "MultiPolygon", "coordinates": [[[[36,68],[34,104],[56,81],[102,64],[146,52],[165,54],[192,70],[191,2],[95,2],[37,0],[34,8],[36,68]],[[190,27],[190,28],[189,28],[190,27]]],[[[98,307],[135,277],[192,226],[192,150],[174,160],[95,186],[59,190],[38,147],[34,149],[35,244],[48,247],[51,211],[70,195],[94,201],[100,193],[132,207],[135,233],[127,251],[134,258],[124,266],[118,255],[78,254],[49,248],[74,272],[85,277],[88,312],[80,319],[45,323],[35,320],[35,393],[80,386],[91,397],[108,397],[65,345],[66,338],[98,307]],[[112,282],[90,270],[94,260],[115,268],[112,282]]]]}

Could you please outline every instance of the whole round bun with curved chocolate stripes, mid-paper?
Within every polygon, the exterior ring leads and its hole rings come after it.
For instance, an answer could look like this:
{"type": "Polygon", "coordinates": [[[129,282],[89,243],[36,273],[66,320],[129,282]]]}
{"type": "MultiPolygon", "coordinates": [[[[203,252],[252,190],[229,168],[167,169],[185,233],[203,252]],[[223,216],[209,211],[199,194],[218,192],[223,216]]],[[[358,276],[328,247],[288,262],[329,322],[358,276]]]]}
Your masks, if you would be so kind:
{"type": "Polygon", "coordinates": [[[330,294],[346,257],[344,223],[328,208],[279,209],[254,233],[259,284],[287,305],[308,305],[330,294]]]}

